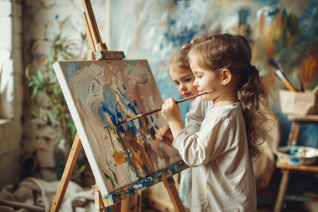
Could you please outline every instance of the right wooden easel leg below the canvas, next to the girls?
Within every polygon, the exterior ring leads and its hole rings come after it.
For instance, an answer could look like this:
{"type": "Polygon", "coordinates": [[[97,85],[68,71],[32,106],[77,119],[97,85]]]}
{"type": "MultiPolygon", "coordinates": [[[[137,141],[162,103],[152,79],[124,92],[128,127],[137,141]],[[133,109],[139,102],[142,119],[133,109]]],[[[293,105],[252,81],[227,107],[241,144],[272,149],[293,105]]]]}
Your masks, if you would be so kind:
{"type": "Polygon", "coordinates": [[[164,182],[164,185],[168,191],[171,202],[172,202],[176,212],[185,212],[185,209],[184,209],[183,204],[182,204],[180,197],[179,197],[179,193],[176,189],[173,177],[170,177],[166,180],[163,180],[163,182],[164,182]]]}

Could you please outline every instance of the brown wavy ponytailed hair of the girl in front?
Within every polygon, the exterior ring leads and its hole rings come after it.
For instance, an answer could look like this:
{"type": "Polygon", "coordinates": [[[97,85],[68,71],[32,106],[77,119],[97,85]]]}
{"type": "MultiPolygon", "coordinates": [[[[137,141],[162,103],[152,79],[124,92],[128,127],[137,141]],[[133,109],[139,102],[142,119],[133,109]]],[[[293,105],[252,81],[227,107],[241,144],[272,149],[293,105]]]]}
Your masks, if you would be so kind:
{"type": "Polygon", "coordinates": [[[241,35],[215,34],[194,45],[188,56],[195,55],[197,64],[204,69],[220,72],[229,69],[233,75],[230,86],[240,92],[250,158],[259,158],[263,153],[265,125],[274,127],[276,115],[269,106],[270,91],[265,76],[250,64],[251,47],[241,35]],[[275,120],[274,120],[275,119],[275,120]]]}

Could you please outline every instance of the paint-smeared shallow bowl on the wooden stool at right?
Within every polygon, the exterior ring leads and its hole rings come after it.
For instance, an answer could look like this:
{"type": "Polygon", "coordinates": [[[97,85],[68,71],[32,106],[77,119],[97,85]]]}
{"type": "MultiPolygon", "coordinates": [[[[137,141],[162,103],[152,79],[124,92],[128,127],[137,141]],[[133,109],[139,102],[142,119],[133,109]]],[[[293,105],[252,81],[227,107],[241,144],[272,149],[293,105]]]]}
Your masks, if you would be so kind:
{"type": "Polygon", "coordinates": [[[282,164],[313,164],[318,158],[318,149],[309,146],[280,146],[275,150],[277,159],[282,164]]]}

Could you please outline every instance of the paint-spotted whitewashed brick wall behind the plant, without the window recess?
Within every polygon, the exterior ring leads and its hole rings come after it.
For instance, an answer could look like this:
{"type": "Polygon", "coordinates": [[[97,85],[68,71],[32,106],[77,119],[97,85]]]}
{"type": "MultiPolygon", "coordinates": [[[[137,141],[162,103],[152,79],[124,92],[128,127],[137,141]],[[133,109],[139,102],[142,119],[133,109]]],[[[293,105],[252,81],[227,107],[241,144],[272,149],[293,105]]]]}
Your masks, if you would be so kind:
{"type": "MultiPolygon", "coordinates": [[[[105,40],[105,0],[91,0],[91,5],[99,27],[102,40],[105,40]]],[[[68,39],[81,45],[82,36],[86,35],[82,20],[83,5],[81,0],[58,1],[23,1],[23,55],[24,67],[29,75],[41,70],[48,72],[46,63],[51,50],[52,40],[60,34],[60,39],[68,39]],[[48,42],[47,42],[48,41],[48,42]]],[[[83,46],[79,58],[87,58],[88,42],[83,46]]],[[[63,43],[68,45],[68,43],[63,43]]],[[[60,59],[60,58],[59,58],[60,59]]],[[[25,80],[25,79],[24,79],[25,80]]],[[[46,180],[56,179],[53,150],[61,139],[61,133],[47,126],[44,122],[32,122],[32,111],[39,111],[30,101],[31,90],[25,84],[23,107],[23,137],[21,157],[36,160],[35,167],[21,167],[23,177],[33,175],[46,180]]]]}

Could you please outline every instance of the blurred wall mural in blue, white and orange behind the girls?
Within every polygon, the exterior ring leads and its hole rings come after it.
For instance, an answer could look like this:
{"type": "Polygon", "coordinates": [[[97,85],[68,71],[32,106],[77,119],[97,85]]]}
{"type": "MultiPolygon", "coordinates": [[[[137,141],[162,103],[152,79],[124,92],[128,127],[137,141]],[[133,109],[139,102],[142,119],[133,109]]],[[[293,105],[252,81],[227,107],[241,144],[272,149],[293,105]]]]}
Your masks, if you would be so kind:
{"type": "MultiPolygon", "coordinates": [[[[278,90],[284,85],[268,64],[273,58],[296,88],[298,73],[305,88],[318,84],[318,1],[176,0],[111,1],[110,50],[127,58],[148,60],[163,99],[179,98],[167,73],[172,54],[196,35],[239,33],[248,38],[253,64],[268,76],[279,116],[281,143],[291,123],[279,108],[278,90]],[[122,7],[122,4],[126,7],[122,7]]],[[[182,105],[181,110],[187,110],[182,105]]],[[[318,147],[318,126],[302,125],[300,144],[318,147]]]]}

